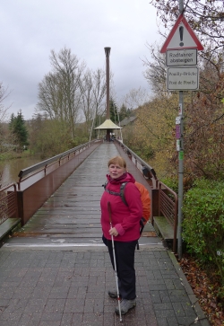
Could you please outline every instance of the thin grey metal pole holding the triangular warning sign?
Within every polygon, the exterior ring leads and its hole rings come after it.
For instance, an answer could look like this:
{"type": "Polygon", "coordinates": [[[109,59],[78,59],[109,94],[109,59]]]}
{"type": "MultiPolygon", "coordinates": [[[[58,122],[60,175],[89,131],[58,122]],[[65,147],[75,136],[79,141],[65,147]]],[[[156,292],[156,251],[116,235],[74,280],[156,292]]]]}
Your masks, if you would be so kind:
{"type": "MultiPolygon", "coordinates": [[[[179,0],[179,13],[184,12],[184,0],[179,0]]],[[[184,197],[184,92],[179,91],[179,117],[180,117],[180,147],[178,155],[178,228],[177,228],[177,254],[182,259],[182,207],[184,197]]]]}

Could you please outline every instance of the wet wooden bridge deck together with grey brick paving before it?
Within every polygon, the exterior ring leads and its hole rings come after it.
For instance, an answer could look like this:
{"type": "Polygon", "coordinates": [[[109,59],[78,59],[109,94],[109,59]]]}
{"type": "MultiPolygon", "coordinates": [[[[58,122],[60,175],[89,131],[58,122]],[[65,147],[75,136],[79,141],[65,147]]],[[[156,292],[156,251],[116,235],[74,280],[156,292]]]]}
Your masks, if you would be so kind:
{"type": "MultiPolygon", "coordinates": [[[[115,273],[101,241],[99,199],[108,159],[127,155],[102,144],[0,249],[1,326],[113,326],[115,273]]],[[[209,326],[184,273],[151,224],[135,253],[137,298],[126,326],[209,326]]]]}

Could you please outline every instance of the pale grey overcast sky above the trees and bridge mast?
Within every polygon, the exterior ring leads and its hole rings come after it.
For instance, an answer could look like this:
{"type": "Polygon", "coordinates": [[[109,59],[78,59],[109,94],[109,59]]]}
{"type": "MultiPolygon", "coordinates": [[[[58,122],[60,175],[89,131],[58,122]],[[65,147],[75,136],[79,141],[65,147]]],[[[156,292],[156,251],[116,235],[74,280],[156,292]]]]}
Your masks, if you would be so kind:
{"type": "Polygon", "coordinates": [[[50,50],[71,48],[95,70],[110,68],[117,99],[140,86],[150,92],[142,59],[146,44],[160,40],[157,16],[149,0],[5,0],[0,4],[0,82],[12,93],[8,113],[22,110],[30,119],[38,102],[38,84],[50,70],[50,50]]]}

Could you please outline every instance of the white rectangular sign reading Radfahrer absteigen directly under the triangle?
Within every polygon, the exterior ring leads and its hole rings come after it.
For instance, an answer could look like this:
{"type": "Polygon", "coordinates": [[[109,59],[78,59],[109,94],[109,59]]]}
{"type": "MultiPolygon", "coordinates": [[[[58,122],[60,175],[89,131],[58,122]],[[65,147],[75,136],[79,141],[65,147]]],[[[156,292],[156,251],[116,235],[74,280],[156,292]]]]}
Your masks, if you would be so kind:
{"type": "Polygon", "coordinates": [[[168,49],[166,52],[167,66],[196,66],[197,49],[168,49]]]}

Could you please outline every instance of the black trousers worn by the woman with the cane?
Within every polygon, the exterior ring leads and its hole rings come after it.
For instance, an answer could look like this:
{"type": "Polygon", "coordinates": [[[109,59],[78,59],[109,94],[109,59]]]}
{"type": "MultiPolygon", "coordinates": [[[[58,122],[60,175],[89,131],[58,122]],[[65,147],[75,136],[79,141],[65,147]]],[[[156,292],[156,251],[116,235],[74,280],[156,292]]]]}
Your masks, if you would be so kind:
{"type": "MultiPolygon", "coordinates": [[[[119,294],[123,299],[134,300],[136,297],[134,251],[137,240],[133,242],[114,242],[116,252],[116,273],[119,294]]],[[[112,241],[107,241],[111,263],[114,266],[112,241]]]]}

